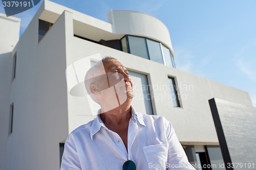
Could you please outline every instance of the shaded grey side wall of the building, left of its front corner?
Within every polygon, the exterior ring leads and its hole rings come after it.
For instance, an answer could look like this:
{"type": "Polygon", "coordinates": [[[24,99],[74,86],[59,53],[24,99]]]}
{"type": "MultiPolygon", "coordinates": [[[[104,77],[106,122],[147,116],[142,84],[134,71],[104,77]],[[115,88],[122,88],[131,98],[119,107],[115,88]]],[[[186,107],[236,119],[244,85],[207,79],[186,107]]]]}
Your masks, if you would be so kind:
{"type": "Polygon", "coordinates": [[[59,143],[68,135],[65,13],[38,43],[43,8],[13,50],[16,77],[7,104],[14,103],[13,133],[3,169],[59,169],[59,143]]]}

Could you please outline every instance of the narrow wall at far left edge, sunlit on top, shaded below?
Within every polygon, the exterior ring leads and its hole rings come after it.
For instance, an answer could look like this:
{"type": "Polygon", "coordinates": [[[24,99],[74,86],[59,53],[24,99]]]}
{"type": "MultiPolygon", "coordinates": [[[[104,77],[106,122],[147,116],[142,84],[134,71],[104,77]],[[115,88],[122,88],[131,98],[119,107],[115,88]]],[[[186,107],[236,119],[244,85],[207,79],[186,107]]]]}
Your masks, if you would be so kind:
{"type": "Polygon", "coordinates": [[[12,77],[12,50],[19,39],[20,19],[0,14],[0,169],[6,161],[6,142],[9,131],[9,94],[12,77]]]}

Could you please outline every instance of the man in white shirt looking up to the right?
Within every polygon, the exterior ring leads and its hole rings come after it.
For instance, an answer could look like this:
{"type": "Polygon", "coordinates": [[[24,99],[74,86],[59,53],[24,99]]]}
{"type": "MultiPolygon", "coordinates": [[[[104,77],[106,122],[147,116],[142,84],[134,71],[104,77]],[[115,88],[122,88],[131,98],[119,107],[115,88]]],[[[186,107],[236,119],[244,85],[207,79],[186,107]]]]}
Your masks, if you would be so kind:
{"type": "Polygon", "coordinates": [[[165,118],[131,106],[133,82],[115,58],[105,57],[86,74],[85,84],[101,109],[65,143],[61,170],[195,169],[165,118]]]}

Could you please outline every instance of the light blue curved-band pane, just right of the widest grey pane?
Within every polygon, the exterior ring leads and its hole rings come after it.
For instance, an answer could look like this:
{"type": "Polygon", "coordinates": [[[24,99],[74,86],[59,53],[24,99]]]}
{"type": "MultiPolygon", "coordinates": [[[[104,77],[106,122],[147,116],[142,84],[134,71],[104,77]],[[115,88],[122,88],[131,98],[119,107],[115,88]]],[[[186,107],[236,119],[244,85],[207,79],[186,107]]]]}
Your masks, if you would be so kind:
{"type": "Polygon", "coordinates": [[[160,43],[150,39],[146,39],[146,43],[148,53],[150,54],[150,60],[164,64],[160,43]]]}

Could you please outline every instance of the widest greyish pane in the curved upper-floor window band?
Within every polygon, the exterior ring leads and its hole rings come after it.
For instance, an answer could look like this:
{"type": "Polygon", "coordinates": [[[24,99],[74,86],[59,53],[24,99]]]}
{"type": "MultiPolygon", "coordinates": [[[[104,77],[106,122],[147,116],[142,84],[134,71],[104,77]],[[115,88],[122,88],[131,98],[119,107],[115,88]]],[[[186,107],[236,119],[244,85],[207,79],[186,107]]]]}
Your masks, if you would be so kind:
{"type": "Polygon", "coordinates": [[[142,37],[127,36],[129,41],[129,50],[131,54],[150,59],[148,57],[146,39],[142,37]]]}

